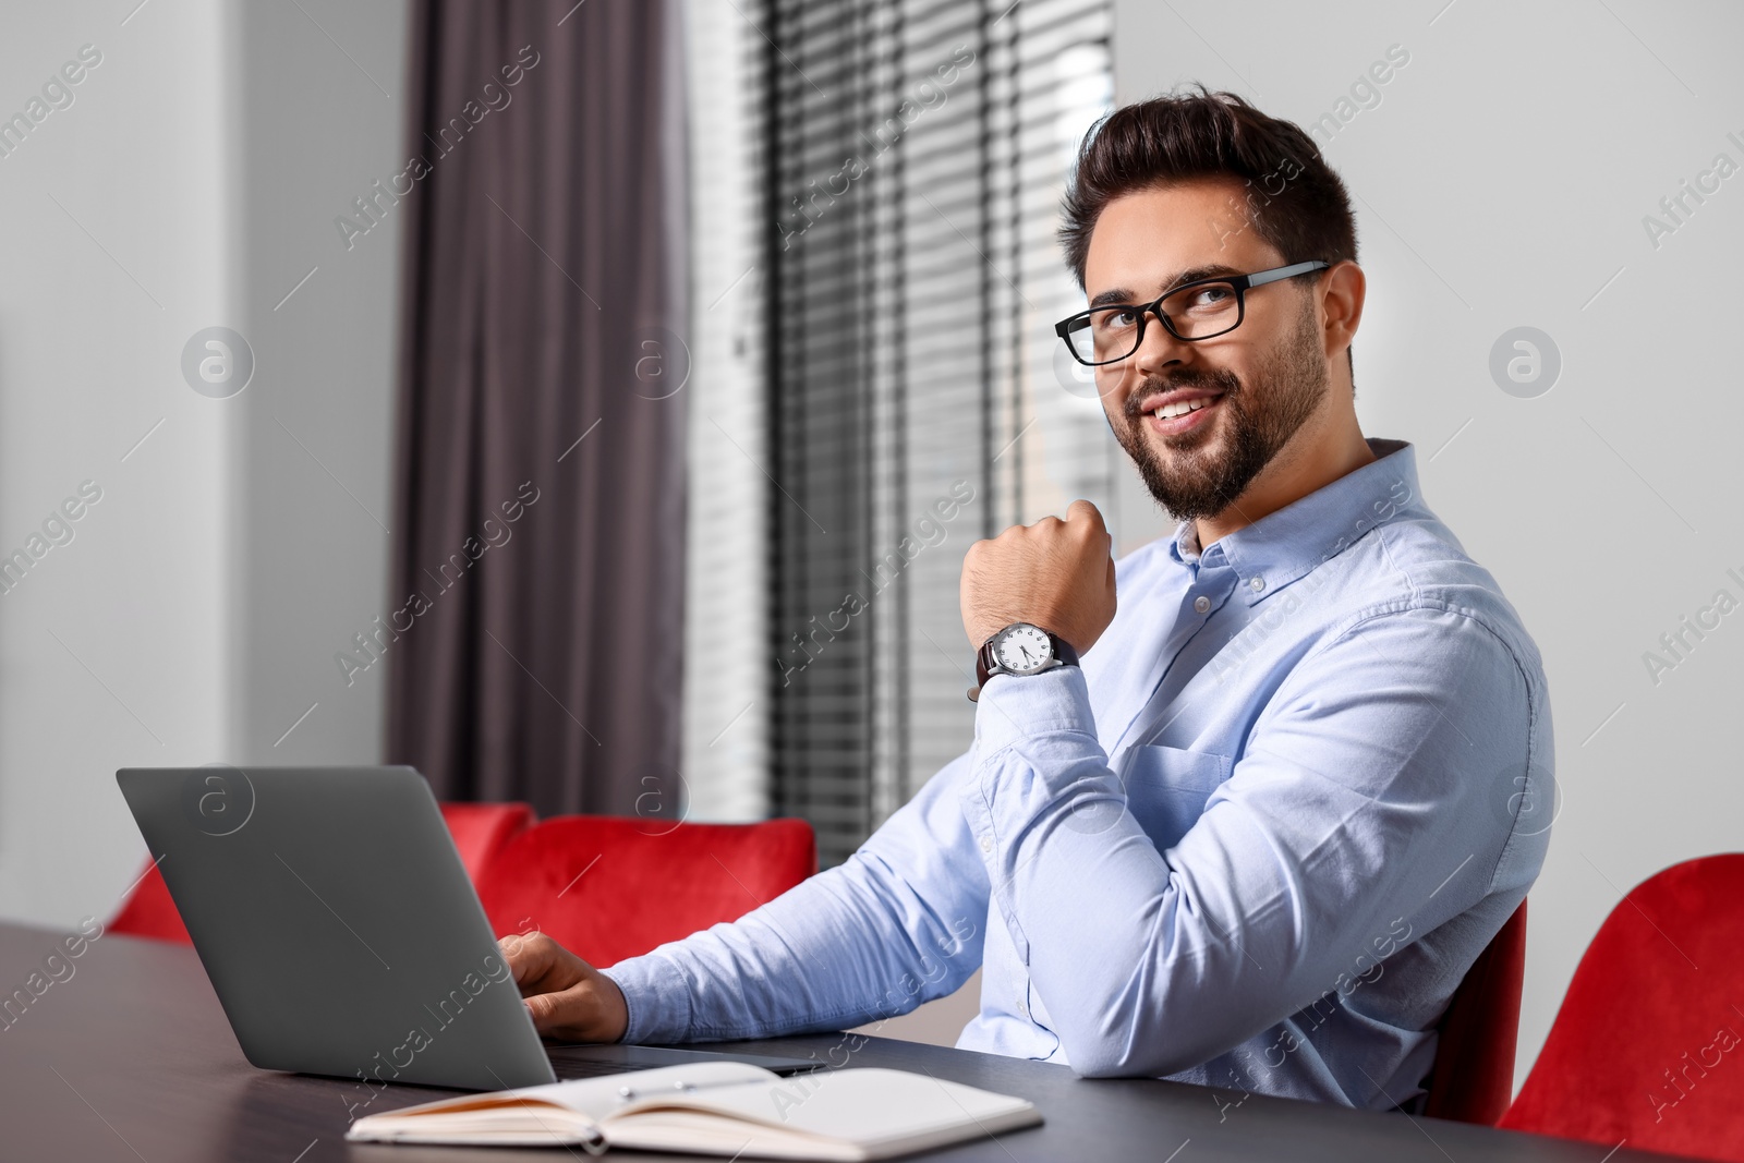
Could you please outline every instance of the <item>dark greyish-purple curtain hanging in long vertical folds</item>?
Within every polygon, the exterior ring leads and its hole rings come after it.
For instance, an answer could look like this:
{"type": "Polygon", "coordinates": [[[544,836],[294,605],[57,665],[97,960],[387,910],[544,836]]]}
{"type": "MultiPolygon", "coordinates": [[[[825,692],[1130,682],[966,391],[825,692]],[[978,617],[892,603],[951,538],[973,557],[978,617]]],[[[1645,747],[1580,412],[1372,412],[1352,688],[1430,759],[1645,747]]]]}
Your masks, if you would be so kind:
{"type": "Polygon", "coordinates": [[[677,0],[413,2],[387,757],[682,811],[677,0]],[[579,441],[579,443],[577,443],[579,441]]]}

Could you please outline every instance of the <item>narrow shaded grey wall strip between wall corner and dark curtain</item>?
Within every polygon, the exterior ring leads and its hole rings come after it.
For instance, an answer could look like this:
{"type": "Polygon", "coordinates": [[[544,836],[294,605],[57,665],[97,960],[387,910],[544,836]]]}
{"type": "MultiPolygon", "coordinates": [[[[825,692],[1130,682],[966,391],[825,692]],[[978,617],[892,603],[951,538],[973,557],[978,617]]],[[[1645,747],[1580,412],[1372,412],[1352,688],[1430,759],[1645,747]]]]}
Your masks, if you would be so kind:
{"type": "Polygon", "coordinates": [[[387,661],[347,685],[335,654],[361,654],[354,635],[399,605],[387,560],[408,202],[378,199],[377,225],[349,248],[335,220],[359,221],[356,199],[406,166],[408,14],[401,0],[235,3],[248,63],[239,314],[260,370],[232,401],[244,427],[232,750],[235,762],[373,764],[387,661]]]}

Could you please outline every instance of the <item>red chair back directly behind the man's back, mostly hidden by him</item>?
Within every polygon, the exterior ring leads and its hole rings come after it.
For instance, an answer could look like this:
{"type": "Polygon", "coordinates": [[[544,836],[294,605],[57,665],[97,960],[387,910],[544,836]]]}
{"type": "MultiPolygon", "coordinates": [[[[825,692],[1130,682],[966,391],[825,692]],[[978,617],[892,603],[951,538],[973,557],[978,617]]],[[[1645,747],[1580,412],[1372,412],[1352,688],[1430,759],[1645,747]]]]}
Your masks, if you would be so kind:
{"type": "Polygon", "coordinates": [[[1495,1126],[1514,1097],[1514,1048],[1526,975],[1526,901],[1453,990],[1441,1018],[1423,1114],[1495,1126]]]}

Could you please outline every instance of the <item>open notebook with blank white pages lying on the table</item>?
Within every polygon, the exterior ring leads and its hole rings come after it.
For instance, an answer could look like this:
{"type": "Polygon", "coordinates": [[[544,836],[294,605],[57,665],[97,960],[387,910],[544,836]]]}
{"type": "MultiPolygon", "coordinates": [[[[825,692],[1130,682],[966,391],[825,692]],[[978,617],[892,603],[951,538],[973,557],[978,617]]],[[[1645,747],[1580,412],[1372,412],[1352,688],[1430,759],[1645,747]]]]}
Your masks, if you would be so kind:
{"type": "Polygon", "coordinates": [[[464,1095],[370,1114],[347,1139],[375,1142],[692,1151],[764,1160],[888,1160],[1034,1126],[1041,1114],[928,1074],[874,1067],[780,1078],[703,1062],[464,1095]]]}

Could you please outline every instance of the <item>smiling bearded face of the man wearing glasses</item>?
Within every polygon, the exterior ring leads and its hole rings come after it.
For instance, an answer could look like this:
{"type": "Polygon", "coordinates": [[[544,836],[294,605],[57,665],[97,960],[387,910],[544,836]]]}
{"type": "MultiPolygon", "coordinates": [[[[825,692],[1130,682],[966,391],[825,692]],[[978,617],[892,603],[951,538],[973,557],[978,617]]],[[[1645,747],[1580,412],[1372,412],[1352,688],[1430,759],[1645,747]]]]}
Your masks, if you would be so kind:
{"type": "MultiPolygon", "coordinates": [[[[1278,255],[1259,237],[1240,181],[1198,180],[1111,201],[1090,235],[1085,293],[1092,305],[1149,303],[1181,282],[1305,258],[1315,255],[1278,255]]],[[[1177,518],[1235,504],[1325,403],[1325,343],[1301,282],[1247,291],[1242,326],[1209,340],[1177,340],[1148,316],[1139,350],[1097,368],[1109,427],[1177,518]],[[1158,415],[1182,405],[1196,410],[1158,415]]]]}

